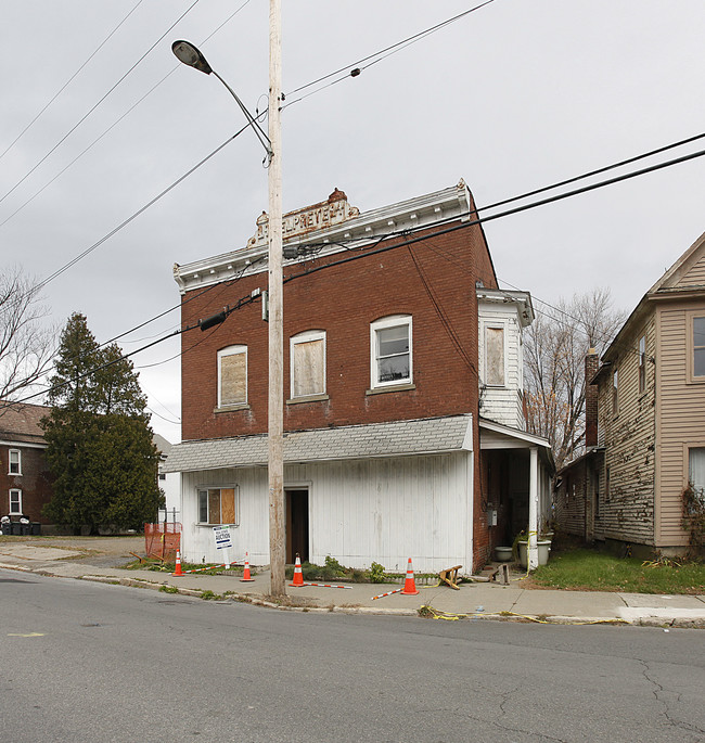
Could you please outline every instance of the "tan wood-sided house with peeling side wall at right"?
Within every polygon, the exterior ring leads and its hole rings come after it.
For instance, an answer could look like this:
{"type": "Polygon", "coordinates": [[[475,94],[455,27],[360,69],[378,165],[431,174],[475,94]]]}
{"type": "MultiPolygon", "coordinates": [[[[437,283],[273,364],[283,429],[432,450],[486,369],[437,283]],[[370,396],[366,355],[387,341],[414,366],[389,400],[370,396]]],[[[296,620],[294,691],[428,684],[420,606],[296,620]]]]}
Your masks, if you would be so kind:
{"type": "Polygon", "coordinates": [[[561,527],[634,554],[682,553],[681,494],[705,490],[705,234],[586,374],[588,450],[557,473],[561,527]]]}

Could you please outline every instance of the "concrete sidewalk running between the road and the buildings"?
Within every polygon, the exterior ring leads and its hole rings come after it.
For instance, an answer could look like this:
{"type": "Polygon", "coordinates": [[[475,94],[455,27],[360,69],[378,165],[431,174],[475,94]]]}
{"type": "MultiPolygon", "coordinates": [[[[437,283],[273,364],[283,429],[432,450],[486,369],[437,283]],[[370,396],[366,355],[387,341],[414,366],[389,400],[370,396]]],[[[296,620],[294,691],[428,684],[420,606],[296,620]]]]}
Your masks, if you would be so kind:
{"type": "MultiPolygon", "coordinates": [[[[180,593],[201,595],[210,591],[227,600],[308,612],[349,612],[393,615],[525,619],[561,624],[619,623],[658,627],[705,628],[705,594],[652,595],[644,593],[581,592],[528,590],[516,582],[500,586],[493,582],[461,584],[456,591],[446,586],[421,586],[419,593],[394,593],[380,599],[374,595],[401,588],[389,584],[345,584],[346,588],[286,586],[283,605],[268,597],[269,572],[254,575],[252,582],[240,580],[242,572],[231,575],[188,574],[176,577],[169,573],[133,571],[105,566],[104,558],[86,554],[84,546],[64,542],[61,546],[38,546],[31,542],[0,542],[0,568],[18,569],[64,578],[80,578],[101,582],[119,582],[152,589],[176,589],[180,593]],[[91,564],[91,562],[97,564],[91,564]],[[424,609],[425,607],[425,609],[424,609]]],[[[137,549],[133,550],[137,552],[137,549]]],[[[115,555],[119,563],[120,555],[115,555]]],[[[121,559],[129,560],[126,551],[121,559]]],[[[110,561],[108,561],[110,562],[110,561]]]]}

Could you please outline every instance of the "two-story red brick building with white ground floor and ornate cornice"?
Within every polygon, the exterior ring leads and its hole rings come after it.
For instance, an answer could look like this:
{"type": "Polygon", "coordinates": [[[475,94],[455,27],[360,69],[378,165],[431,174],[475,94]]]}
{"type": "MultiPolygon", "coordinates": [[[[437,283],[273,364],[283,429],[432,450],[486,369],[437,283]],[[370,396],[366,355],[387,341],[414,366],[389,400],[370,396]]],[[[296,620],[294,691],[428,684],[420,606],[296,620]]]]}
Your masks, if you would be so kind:
{"type": "MultiPolygon", "coordinates": [[[[418,571],[470,573],[511,543],[529,494],[546,504],[548,444],[522,415],[530,298],[498,290],[473,210],[461,181],[364,214],[336,190],[284,215],[287,562],[403,569],[412,556],[418,571]],[[516,463],[491,491],[485,446],[516,463]]],[[[218,561],[220,523],[236,527],[238,554],[269,562],[267,248],[262,215],[245,247],[175,266],[182,326],[227,316],[182,335],[183,440],[165,471],[181,475],[192,562],[218,561]]]]}

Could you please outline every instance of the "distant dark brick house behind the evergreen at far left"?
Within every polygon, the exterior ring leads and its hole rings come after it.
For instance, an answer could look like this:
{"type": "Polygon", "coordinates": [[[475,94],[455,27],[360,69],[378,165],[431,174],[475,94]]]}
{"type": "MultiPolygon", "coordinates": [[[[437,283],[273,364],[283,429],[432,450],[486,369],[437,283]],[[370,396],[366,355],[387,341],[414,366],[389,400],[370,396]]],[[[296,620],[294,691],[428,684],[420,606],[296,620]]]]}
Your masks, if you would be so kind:
{"type": "Polygon", "coordinates": [[[39,421],[49,408],[16,403],[0,415],[0,516],[47,524],[41,509],[52,496],[39,421]]]}

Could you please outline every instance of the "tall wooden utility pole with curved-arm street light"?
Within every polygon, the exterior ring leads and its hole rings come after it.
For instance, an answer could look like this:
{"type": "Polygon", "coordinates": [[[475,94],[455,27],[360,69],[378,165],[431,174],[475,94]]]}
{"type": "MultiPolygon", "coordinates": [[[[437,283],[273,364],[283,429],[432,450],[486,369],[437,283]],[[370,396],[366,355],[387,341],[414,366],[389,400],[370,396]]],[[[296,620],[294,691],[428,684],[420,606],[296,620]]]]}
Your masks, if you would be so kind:
{"type": "Polygon", "coordinates": [[[215,75],[242,110],[267,152],[269,165],[269,398],[267,438],[269,474],[269,561],[272,595],[284,595],[284,319],[282,276],[281,170],[281,0],[269,1],[269,136],[243,105],[234,90],[206,57],[188,41],[175,41],[171,51],[183,64],[215,75]]]}

